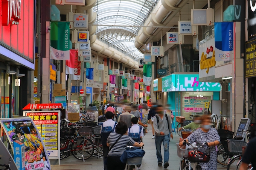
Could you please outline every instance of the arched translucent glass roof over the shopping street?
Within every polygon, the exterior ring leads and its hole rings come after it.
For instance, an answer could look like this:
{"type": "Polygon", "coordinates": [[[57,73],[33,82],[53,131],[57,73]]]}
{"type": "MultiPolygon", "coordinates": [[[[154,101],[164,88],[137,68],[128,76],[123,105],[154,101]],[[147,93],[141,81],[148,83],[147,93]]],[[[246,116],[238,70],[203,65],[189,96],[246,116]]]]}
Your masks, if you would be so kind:
{"type": "Polygon", "coordinates": [[[156,0],[98,0],[93,8],[97,12],[94,22],[96,35],[105,39],[126,55],[143,57],[134,46],[135,36],[145,22],[156,0]]]}

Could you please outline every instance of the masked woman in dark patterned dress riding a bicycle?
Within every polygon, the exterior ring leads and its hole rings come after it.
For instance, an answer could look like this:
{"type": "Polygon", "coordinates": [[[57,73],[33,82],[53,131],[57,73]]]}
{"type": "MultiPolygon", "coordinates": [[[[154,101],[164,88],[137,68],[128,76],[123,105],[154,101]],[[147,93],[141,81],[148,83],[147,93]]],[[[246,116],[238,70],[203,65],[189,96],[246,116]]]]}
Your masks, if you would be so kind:
{"type": "MultiPolygon", "coordinates": [[[[220,143],[220,138],[217,130],[215,128],[211,128],[211,126],[212,118],[209,115],[203,115],[201,117],[201,128],[195,130],[186,138],[186,141],[189,141],[189,143],[196,142],[199,146],[201,146],[205,141],[207,142],[207,146],[210,148],[210,161],[200,163],[202,170],[217,170],[218,162],[215,146],[220,143]]],[[[179,145],[183,146],[183,141],[181,141],[179,145]]]]}

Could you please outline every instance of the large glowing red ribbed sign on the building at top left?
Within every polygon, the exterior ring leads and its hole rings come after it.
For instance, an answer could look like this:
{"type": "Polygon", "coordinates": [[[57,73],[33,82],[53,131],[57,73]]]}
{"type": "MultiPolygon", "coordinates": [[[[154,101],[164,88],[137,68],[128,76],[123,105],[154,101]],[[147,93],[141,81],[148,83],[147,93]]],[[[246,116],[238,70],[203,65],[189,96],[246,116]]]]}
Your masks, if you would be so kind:
{"type": "Polygon", "coordinates": [[[34,2],[35,0],[0,0],[0,41],[32,63],[35,53],[34,2]]]}

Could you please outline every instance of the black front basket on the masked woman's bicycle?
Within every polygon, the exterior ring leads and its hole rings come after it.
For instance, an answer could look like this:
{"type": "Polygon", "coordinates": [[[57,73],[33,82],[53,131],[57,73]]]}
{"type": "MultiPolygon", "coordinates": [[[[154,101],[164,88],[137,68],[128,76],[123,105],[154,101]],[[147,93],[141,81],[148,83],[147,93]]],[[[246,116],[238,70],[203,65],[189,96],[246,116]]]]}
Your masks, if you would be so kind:
{"type": "Polygon", "coordinates": [[[190,162],[209,162],[210,148],[189,148],[188,159],[190,162]]]}

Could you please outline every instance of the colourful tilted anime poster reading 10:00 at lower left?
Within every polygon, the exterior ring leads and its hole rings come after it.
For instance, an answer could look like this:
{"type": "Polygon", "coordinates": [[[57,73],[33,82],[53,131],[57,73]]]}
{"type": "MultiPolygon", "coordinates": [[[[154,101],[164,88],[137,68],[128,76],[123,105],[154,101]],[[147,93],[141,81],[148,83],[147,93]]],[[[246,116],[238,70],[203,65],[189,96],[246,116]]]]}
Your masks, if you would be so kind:
{"type": "Polygon", "coordinates": [[[43,140],[40,135],[34,135],[38,130],[30,117],[1,119],[0,123],[10,143],[24,144],[25,170],[51,170],[43,140]]]}

